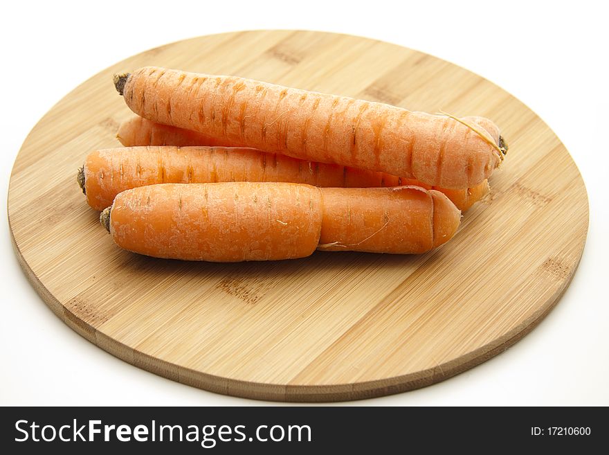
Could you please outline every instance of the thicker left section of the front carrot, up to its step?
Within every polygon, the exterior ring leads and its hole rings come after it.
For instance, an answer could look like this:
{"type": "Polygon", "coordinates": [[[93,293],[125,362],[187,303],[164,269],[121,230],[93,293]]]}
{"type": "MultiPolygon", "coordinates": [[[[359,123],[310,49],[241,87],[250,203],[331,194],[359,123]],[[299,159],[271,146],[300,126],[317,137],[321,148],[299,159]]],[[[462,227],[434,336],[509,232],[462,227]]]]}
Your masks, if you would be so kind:
{"type": "Polygon", "coordinates": [[[111,206],[118,246],[157,258],[240,262],[302,258],[321,228],[319,188],[297,184],[160,184],[111,206]]]}

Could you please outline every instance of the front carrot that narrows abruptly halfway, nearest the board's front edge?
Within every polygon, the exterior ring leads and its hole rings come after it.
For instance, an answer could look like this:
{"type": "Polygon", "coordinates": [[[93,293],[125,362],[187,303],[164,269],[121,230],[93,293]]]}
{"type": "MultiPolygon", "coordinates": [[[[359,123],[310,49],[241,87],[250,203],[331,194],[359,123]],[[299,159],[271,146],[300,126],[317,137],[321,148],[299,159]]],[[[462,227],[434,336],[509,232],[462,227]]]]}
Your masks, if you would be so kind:
{"type": "Polygon", "coordinates": [[[423,253],[453,236],[460,212],[442,193],[412,186],[157,184],[119,193],[100,222],[129,251],[238,262],[315,249],[423,253]]]}

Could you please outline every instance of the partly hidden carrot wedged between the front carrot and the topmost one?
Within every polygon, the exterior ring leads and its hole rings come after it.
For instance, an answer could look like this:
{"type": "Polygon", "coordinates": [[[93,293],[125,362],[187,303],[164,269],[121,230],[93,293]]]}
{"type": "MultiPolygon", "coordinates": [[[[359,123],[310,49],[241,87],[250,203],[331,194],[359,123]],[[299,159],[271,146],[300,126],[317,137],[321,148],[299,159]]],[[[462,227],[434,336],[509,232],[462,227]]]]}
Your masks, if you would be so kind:
{"type": "MultiPolygon", "coordinates": [[[[421,186],[416,180],[383,172],[304,161],[251,148],[169,145],[96,150],[78,171],[78,181],[87,203],[96,210],[110,206],[121,191],[161,183],[286,181],[324,187],[421,186]]],[[[487,190],[485,180],[475,188],[441,191],[464,210],[487,190]]]]}

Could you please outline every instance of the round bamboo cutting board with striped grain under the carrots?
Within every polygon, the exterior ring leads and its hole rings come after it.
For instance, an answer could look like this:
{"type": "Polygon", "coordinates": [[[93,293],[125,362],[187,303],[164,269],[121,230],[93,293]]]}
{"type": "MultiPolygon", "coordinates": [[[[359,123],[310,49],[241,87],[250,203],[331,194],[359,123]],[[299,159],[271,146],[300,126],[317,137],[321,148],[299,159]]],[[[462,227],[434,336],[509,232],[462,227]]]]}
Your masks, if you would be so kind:
{"type": "Polygon", "coordinates": [[[372,39],[282,30],[168,44],[81,84],[26,139],[8,215],[33,286],[100,348],[218,393],[334,401],[433,384],[524,336],[574,274],[588,198],[552,130],[491,82],[372,39]],[[112,74],[145,65],[487,116],[509,153],[455,238],[421,256],[317,252],[241,264],[137,256],[111,242],[75,174],[91,150],[118,145],[118,123],[131,116],[112,74]]]}

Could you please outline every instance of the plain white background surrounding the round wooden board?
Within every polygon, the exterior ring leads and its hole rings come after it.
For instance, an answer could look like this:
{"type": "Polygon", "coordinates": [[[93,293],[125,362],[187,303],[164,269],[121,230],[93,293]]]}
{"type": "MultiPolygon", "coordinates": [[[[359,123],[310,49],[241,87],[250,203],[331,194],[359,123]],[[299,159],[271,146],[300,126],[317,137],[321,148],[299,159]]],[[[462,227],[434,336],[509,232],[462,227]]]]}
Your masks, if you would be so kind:
{"type": "Polygon", "coordinates": [[[0,404],[260,405],[147,373],[93,346],[48,310],[10,243],[12,163],[48,109],[91,75],[148,48],[245,29],[363,35],[442,57],[511,92],[579,166],[590,230],[558,306],[505,353],[439,384],[358,405],[609,404],[609,18],[603,1],[11,1],[0,87],[0,404]]]}

